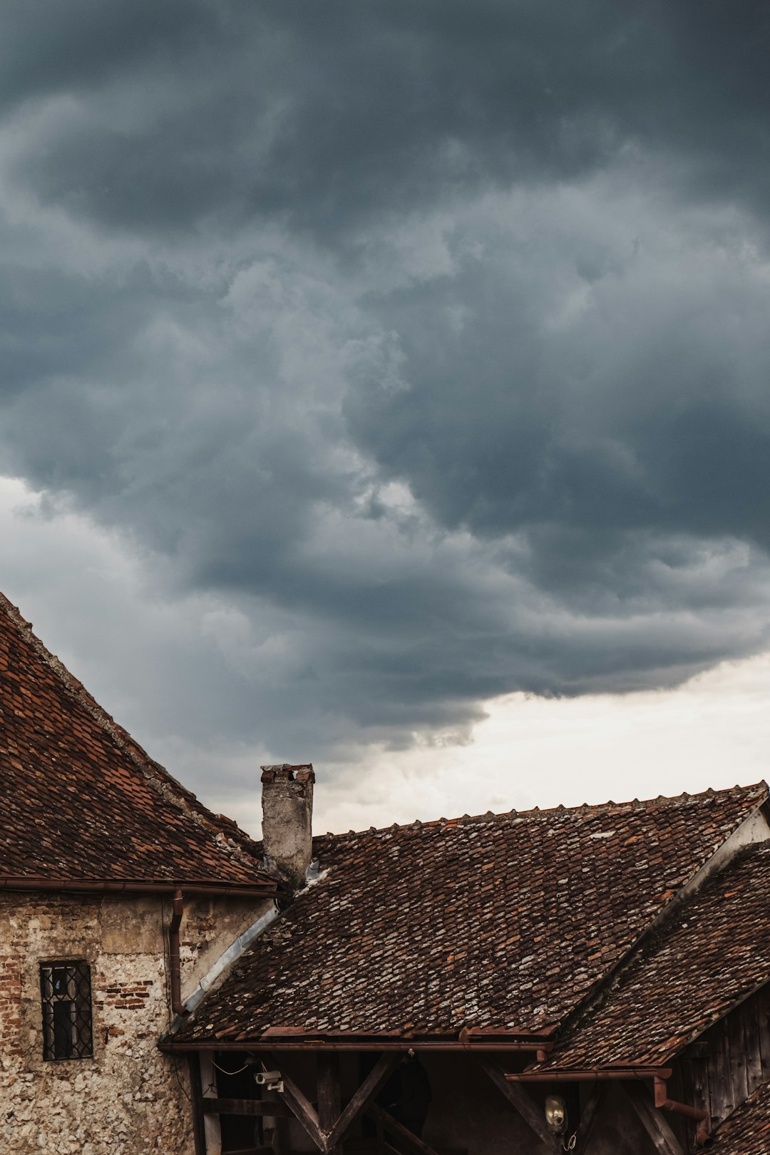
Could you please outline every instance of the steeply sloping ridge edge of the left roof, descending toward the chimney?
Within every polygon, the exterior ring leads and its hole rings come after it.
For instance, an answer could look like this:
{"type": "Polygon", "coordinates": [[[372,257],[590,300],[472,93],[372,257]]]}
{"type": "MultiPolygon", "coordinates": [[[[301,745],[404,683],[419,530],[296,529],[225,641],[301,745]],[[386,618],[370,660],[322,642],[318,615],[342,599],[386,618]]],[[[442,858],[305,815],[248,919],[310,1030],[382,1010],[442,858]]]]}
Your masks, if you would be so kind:
{"type": "Polygon", "coordinates": [[[87,710],[114,745],[128,755],[157,793],[186,813],[196,826],[208,829],[220,848],[231,857],[237,858],[241,865],[251,869],[254,865],[259,865],[257,855],[249,852],[233,840],[233,826],[244,842],[248,841],[253,843],[254,840],[245,830],[241,830],[233,819],[229,819],[226,815],[216,815],[208,806],[204,806],[192,790],[188,790],[187,787],[184,787],[181,782],[170,774],[165,766],[150,758],[144,747],[132,737],[128,730],[115,722],[112,715],[97,702],[80,678],[76,678],[67,669],[61,658],[57,654],[52,654],[45,643],[40,641],[32,629],[32,623],[23,617],[18,606],[14,605],[2,591],[0,591],[0,610],[5,612],[22,641],[30,646],[37,656],[52,670],[67,694],[87,710]],[[218,821],[219,818],[224,819],[224,821],[218,821]]]}

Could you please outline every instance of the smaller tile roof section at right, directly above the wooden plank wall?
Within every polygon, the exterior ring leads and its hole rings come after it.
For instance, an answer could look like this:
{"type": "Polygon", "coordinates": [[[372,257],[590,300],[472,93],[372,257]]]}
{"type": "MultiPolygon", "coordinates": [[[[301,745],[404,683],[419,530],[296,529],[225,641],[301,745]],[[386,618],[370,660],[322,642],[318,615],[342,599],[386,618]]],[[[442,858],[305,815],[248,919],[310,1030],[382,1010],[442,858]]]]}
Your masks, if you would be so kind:
{"type": "Polygon", "coordinates": [[[592,999],[547,1066],[664,1066],[770,981],[770,844],[716,873],[592,999]]]}

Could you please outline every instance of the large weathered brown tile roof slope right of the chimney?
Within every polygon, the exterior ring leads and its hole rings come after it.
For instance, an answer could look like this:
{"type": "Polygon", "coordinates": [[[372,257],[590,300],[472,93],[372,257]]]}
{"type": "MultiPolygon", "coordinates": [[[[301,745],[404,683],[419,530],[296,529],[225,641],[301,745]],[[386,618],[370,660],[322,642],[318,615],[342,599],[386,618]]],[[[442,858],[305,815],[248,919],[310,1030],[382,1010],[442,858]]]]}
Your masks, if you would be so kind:
{"type": "Polygon", "coordinates": [[[317,839],[326,877],[177,1037],[543,1029],[765,798],[761,784],[317,839]]]}

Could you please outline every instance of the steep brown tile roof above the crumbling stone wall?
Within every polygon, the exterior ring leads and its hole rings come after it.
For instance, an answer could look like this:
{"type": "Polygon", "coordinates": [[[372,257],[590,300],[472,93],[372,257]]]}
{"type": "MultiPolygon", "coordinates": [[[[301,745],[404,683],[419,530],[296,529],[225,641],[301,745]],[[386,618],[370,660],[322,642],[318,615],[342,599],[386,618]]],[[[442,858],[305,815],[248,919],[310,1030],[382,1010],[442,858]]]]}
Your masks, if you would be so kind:
{"type": "Polygon", "coordinates": [[[0,595],[2,875],[269,881],[255,843],[115,725],[0,595]]]}

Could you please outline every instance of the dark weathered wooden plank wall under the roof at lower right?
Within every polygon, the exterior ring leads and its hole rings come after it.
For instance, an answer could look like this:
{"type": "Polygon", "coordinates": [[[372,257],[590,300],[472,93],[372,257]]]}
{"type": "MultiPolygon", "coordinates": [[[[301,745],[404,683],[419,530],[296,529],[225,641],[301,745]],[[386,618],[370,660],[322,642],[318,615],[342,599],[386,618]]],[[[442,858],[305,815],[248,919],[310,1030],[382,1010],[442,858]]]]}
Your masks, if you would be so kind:
{"type": "Polygon", "coordinates": [[[690,1044],[676,1075],[683,1102],[705,1108],[713,1126],[770,1079],[770,984],[690,1044]]]}

